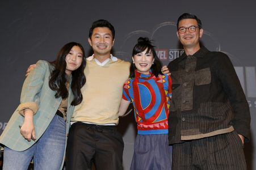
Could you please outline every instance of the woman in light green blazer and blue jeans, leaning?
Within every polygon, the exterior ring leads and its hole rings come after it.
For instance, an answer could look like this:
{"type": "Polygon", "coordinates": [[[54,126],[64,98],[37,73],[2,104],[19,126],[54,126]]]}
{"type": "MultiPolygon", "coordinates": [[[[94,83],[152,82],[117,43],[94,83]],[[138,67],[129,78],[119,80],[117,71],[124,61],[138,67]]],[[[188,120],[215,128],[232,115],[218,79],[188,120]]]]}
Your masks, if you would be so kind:
{"type": "Polygon", "coordinates": [[[77,42],[64,45],[55,61],[36,63],[0,137],[3,169],[27,170],[32,158],[34,169],[62,169],[70,118],[82,101],[85,66],[85,51],[77,42]]]}

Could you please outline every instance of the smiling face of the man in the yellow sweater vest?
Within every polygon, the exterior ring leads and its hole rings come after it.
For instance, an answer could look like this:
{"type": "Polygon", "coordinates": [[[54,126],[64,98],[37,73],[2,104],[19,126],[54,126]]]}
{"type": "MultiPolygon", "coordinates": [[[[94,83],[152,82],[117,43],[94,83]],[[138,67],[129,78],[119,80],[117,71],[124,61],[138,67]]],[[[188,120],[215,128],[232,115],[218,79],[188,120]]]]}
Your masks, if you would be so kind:
{"type": "Polygon", "coordinates": [[[91,48],[93,48],[94,56],[110,57],[114,40],[112,32],[107,27],[96,27],[93,29],[91,38],[88,39],[91,48]]]}

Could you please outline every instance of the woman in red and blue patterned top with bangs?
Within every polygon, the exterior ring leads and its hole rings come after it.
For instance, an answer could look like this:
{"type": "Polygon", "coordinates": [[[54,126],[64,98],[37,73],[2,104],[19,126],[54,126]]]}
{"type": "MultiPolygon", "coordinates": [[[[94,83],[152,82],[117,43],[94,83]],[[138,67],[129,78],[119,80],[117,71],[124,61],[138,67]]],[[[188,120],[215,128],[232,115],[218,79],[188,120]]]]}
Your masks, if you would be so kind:
{"type": "Polygon", "coordinates": [[[124,116],[131,102],[135,110],[138,134],[131,169],[171,169],[167,137],[171,78],[162,75],[162,63],[148,38],[138,39],[132,61],[119,110],[124,116]]]}

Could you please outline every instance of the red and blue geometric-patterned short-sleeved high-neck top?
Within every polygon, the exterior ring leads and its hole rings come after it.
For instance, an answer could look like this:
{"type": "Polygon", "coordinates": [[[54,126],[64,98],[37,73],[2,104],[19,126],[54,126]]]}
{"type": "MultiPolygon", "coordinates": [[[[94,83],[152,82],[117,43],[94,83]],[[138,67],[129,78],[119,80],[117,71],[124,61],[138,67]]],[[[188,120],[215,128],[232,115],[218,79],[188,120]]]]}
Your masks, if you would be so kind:
{"type": "Polygon", "coordinates": [[[171,78],[136,72],[123,87],[123,99],[132,101],[139,134],[167,131],[171,97],[171,78]]]}

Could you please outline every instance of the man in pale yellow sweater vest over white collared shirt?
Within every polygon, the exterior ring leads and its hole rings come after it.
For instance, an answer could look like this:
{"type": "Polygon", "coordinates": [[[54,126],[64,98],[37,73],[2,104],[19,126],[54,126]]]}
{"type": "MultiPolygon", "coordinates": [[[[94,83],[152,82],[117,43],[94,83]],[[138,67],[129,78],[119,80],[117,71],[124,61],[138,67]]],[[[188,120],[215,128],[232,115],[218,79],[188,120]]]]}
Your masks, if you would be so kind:
{"type": "Polygon", "coordinates": [[[90,28],[94,54],[87,58],[82,103],[75,107],[66,150],[66,169],[123,169],[124,142],[116,130],[129,62],[112,56],[115,29],[107,20],[90,28]]]}

